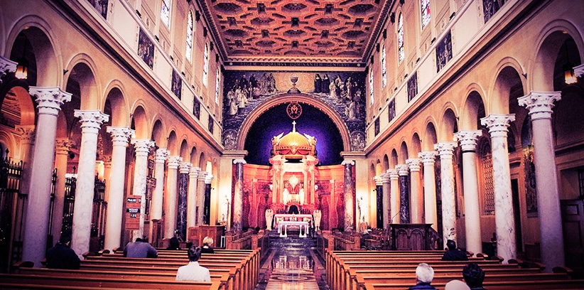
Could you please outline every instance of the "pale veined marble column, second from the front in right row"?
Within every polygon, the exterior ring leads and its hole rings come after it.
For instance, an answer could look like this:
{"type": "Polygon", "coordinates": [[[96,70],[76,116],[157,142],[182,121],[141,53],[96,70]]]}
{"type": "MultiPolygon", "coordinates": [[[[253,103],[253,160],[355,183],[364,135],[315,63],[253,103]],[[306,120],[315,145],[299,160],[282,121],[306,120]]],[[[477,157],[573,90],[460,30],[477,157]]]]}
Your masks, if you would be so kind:
{"type": "Polygon", "coordinates": [[[480,124],[486,126],[491,135],[497,255],[504,259],[504,263],[517,257],[509,151],[507,149],[507,131],[509,123],[514,121],[515,114],[490,114],[480,119],[480,124]]]}

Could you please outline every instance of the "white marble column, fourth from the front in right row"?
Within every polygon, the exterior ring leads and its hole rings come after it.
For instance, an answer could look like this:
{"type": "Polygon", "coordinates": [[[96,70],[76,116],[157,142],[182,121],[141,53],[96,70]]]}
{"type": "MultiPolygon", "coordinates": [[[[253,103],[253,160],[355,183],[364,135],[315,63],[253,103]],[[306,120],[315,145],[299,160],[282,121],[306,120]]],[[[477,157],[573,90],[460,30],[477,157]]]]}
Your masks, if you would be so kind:
{"type": "Polygon", "coordinates": [[[454,195],[454,149],[458,144],[441,142],[434,144],[440,155],[440,192],[442,193],[442,232],[444,247],[448,240],[456,242],[456,198],[454,195]]]}

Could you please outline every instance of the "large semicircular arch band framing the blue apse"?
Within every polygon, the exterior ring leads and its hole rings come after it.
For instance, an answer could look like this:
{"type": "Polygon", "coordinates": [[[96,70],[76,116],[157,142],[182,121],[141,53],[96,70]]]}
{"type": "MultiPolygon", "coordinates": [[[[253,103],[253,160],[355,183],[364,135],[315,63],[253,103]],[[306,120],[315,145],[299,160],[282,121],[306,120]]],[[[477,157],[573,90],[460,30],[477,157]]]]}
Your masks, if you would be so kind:
{"type": "Polygon", "coordinates": [[[304,104],[309,104],[317,109],[323,111],[332,122],[337,126],[341,134],[342,139],[342,146],[344,151],[350,151],[351,149],[351,142],[350,142],[350,134],[349,129],[347,128],[347,124],[345,121],[342,120],[340,115],[332,108],[328,106],[323,101],[318,100],[315,97],[311,97],[310,95],[303,95],[303,94],[288,94],[279,96],[269,100],[268,102],[264,102],[263,104],[259,104],[242,122],[242,126],[239,129],[239,134],[237,134],[237,150],[243,150],[245,146],[245,138],[247,137],[247,133],[249,129],[252,128],[255,120],[264,114],[268,109],[272,107],[276,107],[279,104],[285,104],[287,102],[300,102],[304,104]]]}

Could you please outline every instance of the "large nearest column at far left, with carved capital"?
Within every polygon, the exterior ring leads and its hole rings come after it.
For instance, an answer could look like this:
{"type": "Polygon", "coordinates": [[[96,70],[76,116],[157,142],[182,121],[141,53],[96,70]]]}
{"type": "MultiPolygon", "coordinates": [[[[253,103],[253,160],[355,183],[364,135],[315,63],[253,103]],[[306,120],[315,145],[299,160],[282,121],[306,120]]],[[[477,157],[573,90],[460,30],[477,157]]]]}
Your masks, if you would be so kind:
{"type": "Polygon", "coordinates": [[[32,261],[35,267],[40,267],[40,260],[45,257],[47,246],[57,116],[63,103],[71,100],[71,94],[58,87],[30,87],[28,92],[36,97],[38,118],[30,178],[35,182],[28,184],[26,212],[29,214],[24,220],[22,259],[32,261]]]}

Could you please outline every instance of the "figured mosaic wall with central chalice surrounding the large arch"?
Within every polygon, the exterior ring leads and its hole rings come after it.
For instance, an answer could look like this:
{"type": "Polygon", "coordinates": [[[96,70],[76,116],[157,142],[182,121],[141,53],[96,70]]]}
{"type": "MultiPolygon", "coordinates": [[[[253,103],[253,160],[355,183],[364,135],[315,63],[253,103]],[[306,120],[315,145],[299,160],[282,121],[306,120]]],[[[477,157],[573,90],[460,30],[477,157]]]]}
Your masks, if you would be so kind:
{"type": "MultiPolygon", "coordinates": [[[[345,122],[351,136],[352,151],[363,151],[365,140],[365,74],[349,72],[225,72],[223,88],[223,136],[227,150],[236,149],[239,129],[256,107],[290,94],[308,95],[322,101],[345,122]]],[[[303,109],[308,104],[300,103],[303,109]]],[[[299,112],[288,112],[291,114],[299,112]]],[[[301,112],[300,112],[301,114],[301,112]]],[[[330,119],[330,118],[329,118],[330,119]]],[[[288,125],[289,126],[289,125],[288,125]]],[[[317,128],[306,128],[309,130],[317,128]]],[[[271,138],[272,136],[268,136],[271,138]]]]}

